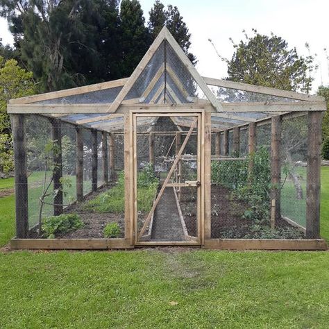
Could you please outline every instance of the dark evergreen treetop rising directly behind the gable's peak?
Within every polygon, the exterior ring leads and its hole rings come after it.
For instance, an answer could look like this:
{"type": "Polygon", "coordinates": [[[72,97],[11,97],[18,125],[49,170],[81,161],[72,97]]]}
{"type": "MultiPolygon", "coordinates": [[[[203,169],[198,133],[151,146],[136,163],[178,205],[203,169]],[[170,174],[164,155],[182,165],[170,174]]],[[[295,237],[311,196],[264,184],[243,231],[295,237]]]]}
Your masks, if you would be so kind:
{"type": "Polygon", "coordinates": [[[189,29],[183,21],[183,16],[180,15],[178,8],[176,6],[169,5],[167,10],[165,10],[165,6],[160,2],[160,0],[155,0],[149,15],[148,25],[153,40],[161,31],[162,27],[167,26],[170,33],[187,54],[189,60],[191,60],[191,62],[195,65],[196,57],[189,52],[189,47],[191,46],[191,33],[189,33],[189,29]]]}

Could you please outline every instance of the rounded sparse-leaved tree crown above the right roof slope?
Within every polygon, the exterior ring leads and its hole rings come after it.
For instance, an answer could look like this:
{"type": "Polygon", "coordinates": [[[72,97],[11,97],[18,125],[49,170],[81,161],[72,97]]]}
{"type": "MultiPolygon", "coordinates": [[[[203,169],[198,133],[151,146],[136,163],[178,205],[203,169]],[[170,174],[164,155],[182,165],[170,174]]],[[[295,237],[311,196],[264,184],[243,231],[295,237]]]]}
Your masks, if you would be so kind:
{"type": "MultiPolygon", "coordinates": [[[[228,60],[228,80],[263,85],[281,90],[310,92],[314,69],[312,56],[299,56],[296,48],[271,33],[261,35],[253,29],[253,37],[233,42],[235,53],[228,60]]],[[[308,47],[308,46],[307,46],[308,47]]]]}

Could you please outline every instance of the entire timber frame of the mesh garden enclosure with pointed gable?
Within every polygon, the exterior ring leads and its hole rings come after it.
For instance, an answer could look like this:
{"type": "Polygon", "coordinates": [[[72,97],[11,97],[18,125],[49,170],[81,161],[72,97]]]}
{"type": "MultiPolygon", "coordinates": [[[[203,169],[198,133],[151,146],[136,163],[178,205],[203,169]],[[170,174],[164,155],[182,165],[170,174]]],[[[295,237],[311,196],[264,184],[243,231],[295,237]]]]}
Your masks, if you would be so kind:
{"type": "MultiPolygon", "coordinates": [[[[185,75],[186,75],[185,74],[185,75]]],[[[135,92],[136,94],[136,92],[135,92]]],[[[93,99],[91,97],[91,99],[93,99]]],[[[261,97],[260,97],[261,99],[261,97]]],[[[8,104],[8,113],[12,121],[12,133],[15,151],[15,190],[16,190],[16,237],[11,240],[11,248],[40,248],[40,249],[108,249],[134,248],[135,246],[153,245],[191,245],[203,248],[219,249],[289,249],[289,250],[322,250],[326,249],[326,242],[320,238],[320,146],[321,146],[321,118],[326,111],[326,102],[321,96],[301,94],[285,90],[276,90],[269,87],[247,85],[214,78],[201,77],[194,66],[178,46],[174,37],[167,28],[163,28],[151,45],[149,51],[142,58],[133,74],[129,78],[109,81],[96,85],[76,87],[69,90],[49,92],[34,96],[12,99],[8,104]],[[158,56],[160,47],[170,47],[182,67],[189,74],[189,81],[201,90],[192,95],[185,81],[179,76],[174,65],[170,62],[162,63],[155,70],[146,87],[140,94],[129,98],[130,93],[136,90],[137,82],[143,78],[146,70],[154,63],[154,56],[158,56]],[[165,77],[165,78],[164,78],[165,77]],[[164,78],[164,82],[161,79],[164,78]],[[170,83],[169,83],[170,81],[170,83]],[[239,90],[258,96],[268,95],[271,100],[262,101],[232,101],[221,102],[212,87],[226,90],[239,90]],[[109,101],[81,103],[75,102],[75,97],[89,95],[103,95],[112,91],[115,94],[109,101]],[[148,103],[144,103],[149,99],[148,103]],[[53,140],[60,141],[60,123],[65,122],[76,129],[76,200],[81,202],[83,196],[83,140],[81,129],[92,132],[92,191],[97,187],[97,132],[101,132],[103,141],[102,167],[103,181],[108,183],[115,179],[115,135],[124,136],[124,183],[125,183],[125,232],[122,239],[30,239],[28,238],[28,185],[26,169],[26,115],[41,115],[49,118],[53,140]],[[80,116],[79,116],[80,115],[80,116]],[[81,117],[83,115],[83,117],[81,117]],[[136,208],[135,208],[135,140],[136,126],[152,126],[155,116],[169,116],[177,127],[177,131],[147,130],[141,134],[149,134],[150,161],[154,163],[154,136],[175,135],[176,143],[180,137],[187,135],[186,128],[192,122],[185,115],[200,117],[198,135],[200,139],[200,157],[198,158],[201,170],[200,189],[200,236],[198,243],[194,242],[136,242],[136,208]],[[240,133],[248,130],[248,153],[253,153],[256,143],[256,127],[271,124],[271,220],[272,226],[280,217],[280,191],[276,185],[280,182],[280,129],[281,122],[298,116],[308,117],[308,151],[307,151],[307,201],[306,227],[307,239],[212,239],[211,238],[211,161],[214,159],[230,160],[229,133],[233,134],[233,151],[239,151],[240,133]],[[137,121],[136,118],[140,121],[137,121]],[[133,129],[132,129],[133,128],[133,129]],[[185,130],[183,130],[185,128],[185,130]],[[134,130],[135,129],[135,130],[134,130]],[[214,155],[212,155],[212,140],[214,140],[214,155]]],[[[60,142],[59,142],[60,144],[60,142]]],[[[59,145],[59,147],[61,147],[59,145]]],[[[62,158],[54,159],[61,165],[62,158]]],[[[249,170],[253,166],[249,162],[249,170]]],[[[60,168],[60,166],[59,166],[60,168]]],[[[60,187],[59,169],[54,176],[54,184],[60,187]]],[[[56,196],[57,206],[55,214],[62,213],[62,195],[56,196]]]]}

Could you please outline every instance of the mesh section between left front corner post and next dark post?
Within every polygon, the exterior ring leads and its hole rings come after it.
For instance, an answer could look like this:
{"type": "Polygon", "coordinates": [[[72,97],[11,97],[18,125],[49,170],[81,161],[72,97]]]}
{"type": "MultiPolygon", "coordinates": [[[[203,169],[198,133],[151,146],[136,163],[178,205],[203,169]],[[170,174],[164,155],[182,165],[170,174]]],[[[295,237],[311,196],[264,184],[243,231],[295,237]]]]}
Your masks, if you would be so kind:
{"type": "MultiPolygon", "coordinates": [[[[53,161],[51,155],[51,123],[40,115],[26,115],[26,155],[28,171],[28,228],[34,232],[39,223],[40,201],[42,194],[53,192],[53,161]],[[48,187],[48,189],[47,189],[48,187]]],[[[53,196],[44,198],[53,203],[53,196]]],[[[42,219],[53,215],[53,205],[44,204],[42,219]]],[[[33,237],[33,234],[32,236],[33,237]]],[[[36,236],[38,237],[38,236],[36,236]]]]}

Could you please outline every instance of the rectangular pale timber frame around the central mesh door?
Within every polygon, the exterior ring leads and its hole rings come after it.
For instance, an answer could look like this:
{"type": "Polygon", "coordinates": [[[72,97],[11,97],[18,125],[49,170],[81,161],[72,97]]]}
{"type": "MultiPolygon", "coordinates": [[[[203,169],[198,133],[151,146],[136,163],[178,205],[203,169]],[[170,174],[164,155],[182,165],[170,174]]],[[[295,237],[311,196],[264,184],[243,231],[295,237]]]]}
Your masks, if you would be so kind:
{"type": "MultiPolygon", "coordinates": [[[[130,229],[130,244],[135,246],[201,246],[204,244],[204,215],[205,215],[205,179],[204,178],[204,159],[205,159],[205,110],[159,110],[150,106],[147,110],[130,110],[128,119],[128,131],[129,137],[129,170],[127,177],[126,187],[129,188],[129,210],[127,213],[130,217],[129,229],[130,229]],[[197,220],[198,220],[198,239],[194,241],[180,241],[180,242],[139,242],[137,240],[137,149],[136,149],[136,118],[137,117],[198,117],[198,137],[199,137],[199,160],[198,171],[200,173],[200,187],[198,188],[198,200],[197,200],[197,220]]],[[[126,148],[125,148],[126,149],[126,148]]],[[[128,149],[128,148],[127,148],[128,149]]],[[[126,194],[127,195],[127,194],[126,194]]]]}

